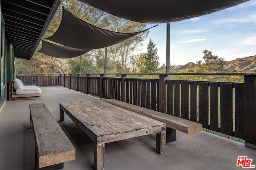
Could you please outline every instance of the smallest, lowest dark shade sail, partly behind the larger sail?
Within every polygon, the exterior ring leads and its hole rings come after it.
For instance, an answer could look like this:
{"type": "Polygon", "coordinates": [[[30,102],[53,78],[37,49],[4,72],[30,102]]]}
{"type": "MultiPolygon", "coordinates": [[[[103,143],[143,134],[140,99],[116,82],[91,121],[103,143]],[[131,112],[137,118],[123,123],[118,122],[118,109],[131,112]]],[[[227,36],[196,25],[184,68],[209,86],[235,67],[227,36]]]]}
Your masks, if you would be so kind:
{"type": "Polygon", "coordinates": [[[62,45],[52,44],[47,41],[42,40],[42,48],[38,51],[45,55],[56,57],[56,58],[72,58],[77,57],[79,55],[83,55],[90,50],[84,49],[74,49],[71,47],[66,47],[62,45]]]}

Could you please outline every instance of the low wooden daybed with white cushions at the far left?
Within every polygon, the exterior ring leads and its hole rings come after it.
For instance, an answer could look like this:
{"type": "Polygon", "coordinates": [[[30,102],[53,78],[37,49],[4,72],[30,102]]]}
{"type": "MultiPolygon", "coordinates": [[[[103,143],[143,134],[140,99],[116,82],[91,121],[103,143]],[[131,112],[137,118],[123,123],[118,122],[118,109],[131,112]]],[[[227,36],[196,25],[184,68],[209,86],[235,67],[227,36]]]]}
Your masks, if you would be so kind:
{"type": "Polygon", "coordinates": [[[22,81],[18,78],[14,78],[13,87],[15,92],[12,92],[12,99],[38,99],[42,96],[42,90],[38,86],[24,86],[22,81]]]}

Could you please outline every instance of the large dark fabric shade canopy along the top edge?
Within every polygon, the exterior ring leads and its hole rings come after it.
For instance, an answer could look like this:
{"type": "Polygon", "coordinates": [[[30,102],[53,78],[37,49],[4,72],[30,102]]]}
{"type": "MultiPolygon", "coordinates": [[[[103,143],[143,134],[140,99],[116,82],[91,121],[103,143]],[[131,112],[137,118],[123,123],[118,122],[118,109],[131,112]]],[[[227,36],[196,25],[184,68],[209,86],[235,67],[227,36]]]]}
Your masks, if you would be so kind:
{"type": "Polygon", "coordinates": [[[163,23],[210,14],[248,0],[79,0],[126,20],[163,23]]]}

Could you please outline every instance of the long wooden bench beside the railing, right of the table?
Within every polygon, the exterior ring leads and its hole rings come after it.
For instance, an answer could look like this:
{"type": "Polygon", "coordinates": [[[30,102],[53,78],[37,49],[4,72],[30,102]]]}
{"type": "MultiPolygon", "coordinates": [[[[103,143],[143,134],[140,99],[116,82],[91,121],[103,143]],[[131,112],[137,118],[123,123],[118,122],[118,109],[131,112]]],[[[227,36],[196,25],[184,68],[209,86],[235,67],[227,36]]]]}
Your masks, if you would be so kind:
{"type": "Polygon", "coordinates": [[[159,111],[154,111],[115,99],[104,99],[103,101],[166,123],[166,143],[176,141],[176,130],[187,134],[202,131],[201,123],[175,117],[173,115],[168,115],[166,113],[161,113],[159,111]]]}

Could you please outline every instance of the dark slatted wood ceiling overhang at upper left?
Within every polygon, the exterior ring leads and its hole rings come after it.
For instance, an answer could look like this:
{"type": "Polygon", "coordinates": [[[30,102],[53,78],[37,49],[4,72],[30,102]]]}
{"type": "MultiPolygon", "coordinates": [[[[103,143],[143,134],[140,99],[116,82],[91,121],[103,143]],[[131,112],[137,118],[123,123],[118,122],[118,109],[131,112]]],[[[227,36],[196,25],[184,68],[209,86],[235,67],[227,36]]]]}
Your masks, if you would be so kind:
{"type": "Polygon", "coordinates": [[[31,59],[61,3],[61,0],[1,0],[6,40],[12,43],[15,57],[31,59]]]}

